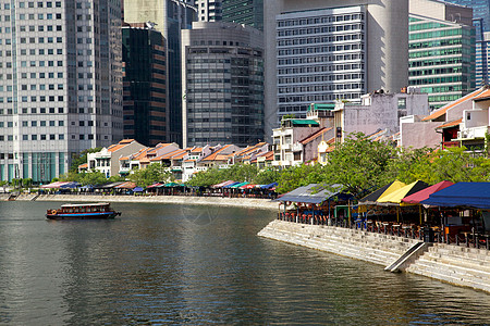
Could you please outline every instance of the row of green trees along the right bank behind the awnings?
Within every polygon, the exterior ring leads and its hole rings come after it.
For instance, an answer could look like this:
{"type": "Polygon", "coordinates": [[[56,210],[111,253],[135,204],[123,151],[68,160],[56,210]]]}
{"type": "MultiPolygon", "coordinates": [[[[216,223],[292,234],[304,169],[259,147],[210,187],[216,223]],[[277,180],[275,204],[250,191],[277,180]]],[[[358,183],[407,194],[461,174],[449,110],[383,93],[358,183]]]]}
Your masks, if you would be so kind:
{"type": "Polygon", "coordinates": [[[409,184],[422,180],[434,185],[442,180],[490,181],[490,159],[463,148],[448,150],[402,149],[391,143],[371,141],[363,134],[351,135],[329,154],[327,165],[303,164],[284,170],[257,170],[237,164],[229,170],[211,168],[198,173],[189,184],[210,186],[224,180],[270,184],[284,193],[309,184],[344,185],[345,190],[360,198],[399,179],[409,184]]]}

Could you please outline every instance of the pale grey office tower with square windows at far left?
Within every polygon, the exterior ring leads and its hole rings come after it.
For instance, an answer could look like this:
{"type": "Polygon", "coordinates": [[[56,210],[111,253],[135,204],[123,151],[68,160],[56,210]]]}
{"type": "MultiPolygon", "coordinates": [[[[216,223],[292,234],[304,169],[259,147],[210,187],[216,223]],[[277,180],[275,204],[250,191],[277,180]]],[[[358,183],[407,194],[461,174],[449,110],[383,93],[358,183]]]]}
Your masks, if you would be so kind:
{"type": "Polygon", "coordinates": [[[122,139],[120,3],[9,1],[0,15],[0,179],[49,183],[122,139]]]}

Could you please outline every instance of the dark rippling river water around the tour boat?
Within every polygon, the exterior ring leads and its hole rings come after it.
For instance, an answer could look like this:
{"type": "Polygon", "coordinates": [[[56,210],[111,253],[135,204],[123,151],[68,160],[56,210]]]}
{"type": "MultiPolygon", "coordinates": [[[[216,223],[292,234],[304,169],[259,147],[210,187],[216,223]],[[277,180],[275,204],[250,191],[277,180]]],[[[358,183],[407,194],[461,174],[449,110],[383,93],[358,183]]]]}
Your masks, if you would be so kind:
{"type": "Polygon", "coordinates": [[[0,203],[0,324],[490,325],[490,294],[256,234],[274,212],[0,203]]]}

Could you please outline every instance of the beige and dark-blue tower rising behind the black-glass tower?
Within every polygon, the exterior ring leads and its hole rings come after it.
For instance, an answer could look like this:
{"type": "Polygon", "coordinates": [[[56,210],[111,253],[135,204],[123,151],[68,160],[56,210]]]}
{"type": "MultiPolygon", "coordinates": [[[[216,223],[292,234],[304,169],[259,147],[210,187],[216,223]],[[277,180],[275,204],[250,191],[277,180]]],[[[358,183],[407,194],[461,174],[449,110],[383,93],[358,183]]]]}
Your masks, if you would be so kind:
{"type": "Polygon", "coordinates": [[[182,143],[181,30],[196,20],[194,0],[124,0],[127,23],[151,22],[167,40],[168,141],[182,143]]]}

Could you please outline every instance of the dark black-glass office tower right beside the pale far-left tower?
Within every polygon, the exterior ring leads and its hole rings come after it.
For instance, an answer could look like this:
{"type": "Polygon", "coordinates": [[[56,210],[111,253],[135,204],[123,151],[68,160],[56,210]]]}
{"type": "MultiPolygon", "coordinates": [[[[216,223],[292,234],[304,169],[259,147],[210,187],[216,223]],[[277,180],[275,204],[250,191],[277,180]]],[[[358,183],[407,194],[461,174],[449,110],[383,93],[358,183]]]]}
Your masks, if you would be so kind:
{"type": "Polygon", "coordinates": [[[152,24],[134,23],[123,26],[122,40],[124,138],[167,142],[164,39],[152,24]]]}

